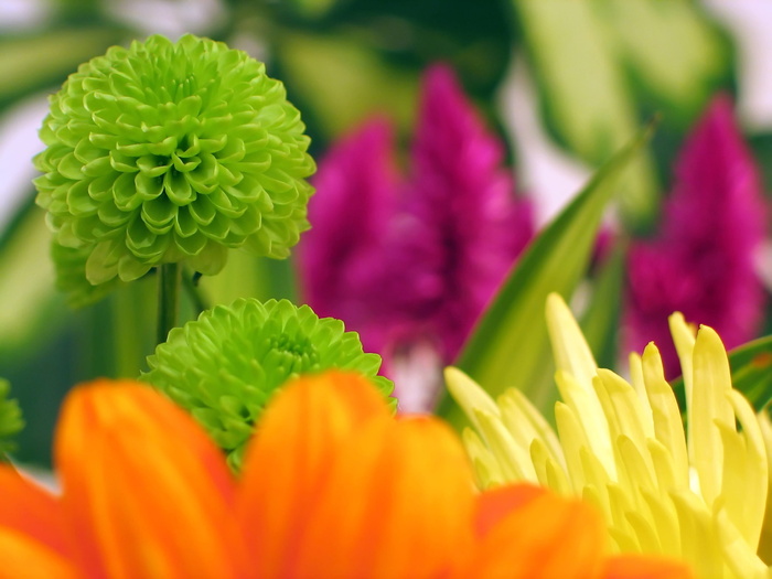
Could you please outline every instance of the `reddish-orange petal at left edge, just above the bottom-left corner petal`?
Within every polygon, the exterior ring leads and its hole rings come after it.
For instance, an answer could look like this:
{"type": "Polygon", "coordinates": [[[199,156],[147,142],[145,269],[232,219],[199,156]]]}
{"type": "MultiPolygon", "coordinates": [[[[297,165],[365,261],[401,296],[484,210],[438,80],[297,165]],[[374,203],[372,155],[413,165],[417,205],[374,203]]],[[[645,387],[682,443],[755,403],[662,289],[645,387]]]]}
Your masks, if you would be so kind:
{"type": "Polygon", "coordinates": [[[62,508],[53,495],[14,469],[0,465],[0,528],[12,528],[67,555],[62,508]]]}

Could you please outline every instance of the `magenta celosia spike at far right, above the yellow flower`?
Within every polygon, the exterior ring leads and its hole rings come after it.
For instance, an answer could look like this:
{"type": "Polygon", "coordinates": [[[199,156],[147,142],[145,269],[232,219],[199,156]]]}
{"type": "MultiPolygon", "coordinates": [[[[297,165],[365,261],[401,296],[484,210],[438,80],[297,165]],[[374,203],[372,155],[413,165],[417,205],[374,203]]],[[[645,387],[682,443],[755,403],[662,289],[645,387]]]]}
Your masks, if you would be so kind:
{"type": "Polygon", "coordinates": [[[667,317],[680,311],[712,326],[727,347],[753,339],[766,299],[754,269],[766,210],[751,154],[719,96],[689,136],[675,168],[673,194],[656,239],[629,256],[630,345],[654,340],[668,377],[678,367],[667,317]]]}

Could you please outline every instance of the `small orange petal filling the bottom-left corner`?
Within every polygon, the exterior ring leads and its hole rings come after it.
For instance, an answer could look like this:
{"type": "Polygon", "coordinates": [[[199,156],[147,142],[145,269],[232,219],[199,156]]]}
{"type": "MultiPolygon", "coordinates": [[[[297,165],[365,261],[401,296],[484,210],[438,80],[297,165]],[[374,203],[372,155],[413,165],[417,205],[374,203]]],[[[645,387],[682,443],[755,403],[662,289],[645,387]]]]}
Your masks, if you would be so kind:
{"type": "Polygon", "coordinates": [[[51,577],[78,579],[83,576],[71,561],[31,536],[0,527],[0,579],[51,577]]]}

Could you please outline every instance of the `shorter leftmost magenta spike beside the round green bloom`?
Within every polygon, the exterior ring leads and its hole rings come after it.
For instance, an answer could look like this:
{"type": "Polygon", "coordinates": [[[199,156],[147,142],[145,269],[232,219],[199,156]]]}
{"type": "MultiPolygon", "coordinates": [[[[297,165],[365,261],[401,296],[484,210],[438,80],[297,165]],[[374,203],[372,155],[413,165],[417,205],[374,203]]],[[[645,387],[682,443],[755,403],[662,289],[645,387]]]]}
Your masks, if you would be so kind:
{"type": "Polygon", "coordinates": [[[311,230],[299,246],[304,299],[319,315],[361,325],[367,318],[368,260],[379,259],[395,212],[393,131],[377,118],[339,141],[319,163],[311,230]]]}

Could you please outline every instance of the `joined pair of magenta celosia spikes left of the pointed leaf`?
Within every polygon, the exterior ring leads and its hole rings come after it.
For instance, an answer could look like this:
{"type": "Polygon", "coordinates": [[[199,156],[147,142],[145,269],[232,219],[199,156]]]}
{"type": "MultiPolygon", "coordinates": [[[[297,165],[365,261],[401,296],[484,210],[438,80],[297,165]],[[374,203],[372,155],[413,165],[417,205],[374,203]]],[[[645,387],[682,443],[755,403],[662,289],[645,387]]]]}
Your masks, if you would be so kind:
{"type": "Polygon", "coordinates": [[[392,151],[379,119],[320,162],[299,251],[304,297],[358,331],[386,367],[427,344],[448,363],[530,239],[530,207],[444,66],[423,78],[405,179],[392,151]]]}

